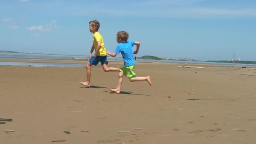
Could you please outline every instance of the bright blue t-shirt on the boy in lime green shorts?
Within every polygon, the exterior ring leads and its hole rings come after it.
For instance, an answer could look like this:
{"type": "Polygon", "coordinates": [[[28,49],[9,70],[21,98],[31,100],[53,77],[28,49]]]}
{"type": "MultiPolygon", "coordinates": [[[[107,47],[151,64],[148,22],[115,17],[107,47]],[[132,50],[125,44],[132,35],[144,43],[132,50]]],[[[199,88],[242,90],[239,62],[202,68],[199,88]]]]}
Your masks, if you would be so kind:
{"type": "Polygon", "coordinates": [[[123,56],[123,60],[125,61],[124,62],[125,67],[135,65],[135,61],[133,59],[133,48],[132,48],[134,44],[135,42],[133,41],[119,43],[117,45],[117,48],[115,49],[115,53],[121,52],[123,56]]]}

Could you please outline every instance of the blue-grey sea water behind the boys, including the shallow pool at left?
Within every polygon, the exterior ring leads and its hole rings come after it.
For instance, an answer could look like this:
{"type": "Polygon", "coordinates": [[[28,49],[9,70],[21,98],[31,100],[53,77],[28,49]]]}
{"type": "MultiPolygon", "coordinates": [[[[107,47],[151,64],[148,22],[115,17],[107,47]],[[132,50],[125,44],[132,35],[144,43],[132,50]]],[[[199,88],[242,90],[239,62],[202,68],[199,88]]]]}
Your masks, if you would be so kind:
{"type": "MultiPolygon", "coordinates": [[[[88,59],[88,56],[78,55],[58,55],[58,54],[38,54],[38,53],[1,53],[0,59],[23,59],[23,60],[65,60],[72,61],[72,58],[88,59]]],[[[109,60],[123,61],[122,58],[108,57],[109,60]]],[[[213,64],[213,65],[226,65],[233,66],[232,63],[217,63],[217,62],[204,62],[204,61],[171,61],[171,60],[150,60],[150,59],[136,59],[136,61],[149,61],[149,62],[163,62],[163,63],[179,63],[179,64],[213,64]]],[[[0,61],[0,65],[9,66],[32,66],[32,67],[85,67],[85,64],[59,64],[59,63],[37,63],[37,62],[7,62],[0,61]]],[[[234,64],[235,66],[256,67],[256,64],[234,64]]]]}

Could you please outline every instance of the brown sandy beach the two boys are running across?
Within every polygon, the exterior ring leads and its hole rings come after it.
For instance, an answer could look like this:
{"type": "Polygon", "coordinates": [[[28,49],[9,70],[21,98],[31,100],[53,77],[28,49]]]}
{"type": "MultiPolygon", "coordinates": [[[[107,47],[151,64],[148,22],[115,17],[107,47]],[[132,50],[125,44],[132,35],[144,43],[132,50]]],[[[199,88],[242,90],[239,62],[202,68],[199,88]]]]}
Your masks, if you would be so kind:
{"type": "Polygon", "coordinates": [[[255,68],[136,62],[152,87],[124,77],[115,94],[100,65],[89,88],[85,67],[0,66],[0,144],[254,144],[255,68]]]}

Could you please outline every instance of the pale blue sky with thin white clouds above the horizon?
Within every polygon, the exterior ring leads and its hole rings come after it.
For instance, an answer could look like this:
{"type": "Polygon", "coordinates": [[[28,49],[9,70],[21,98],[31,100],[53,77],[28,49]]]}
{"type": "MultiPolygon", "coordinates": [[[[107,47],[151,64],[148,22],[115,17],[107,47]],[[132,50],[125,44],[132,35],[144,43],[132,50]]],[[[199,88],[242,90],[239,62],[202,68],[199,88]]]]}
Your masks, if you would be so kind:
{"type": "Polygon", "coordinates": [[[256,61],[256,0],[1,0],[0,50],[88,55],[94,19],[107,51],[124,30],[138,57],[256,61]]]}

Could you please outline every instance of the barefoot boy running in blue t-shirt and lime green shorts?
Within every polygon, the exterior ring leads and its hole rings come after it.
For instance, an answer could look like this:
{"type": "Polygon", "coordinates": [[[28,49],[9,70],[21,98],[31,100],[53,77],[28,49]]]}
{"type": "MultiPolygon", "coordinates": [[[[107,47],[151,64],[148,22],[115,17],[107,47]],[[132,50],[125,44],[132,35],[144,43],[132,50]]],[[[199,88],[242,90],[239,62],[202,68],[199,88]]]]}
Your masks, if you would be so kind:
{"type": "Polygon", "coordinates": [[[131,82],[138,82],[138,81],[144,80],[144,81],[147,81],[150,86],[152,86],[150,76],[136,77],[135,72],[133,72],[134,65],[135,65],[135,61],[133,59],[133,54],[137,54],[139,52],[140,42],[127,41],[128,38],[129,38],[129,34],[127,32],[125,32],[125,31],[117,32],[117,43],[119,43],[119,44],[117,45],[115,52],[110,53],[109,51],[107,51],[107,54],[112,57],[115,57],[117,55],[117,53],[121,52],[121,54],[123,56],[123,60],[124,60],[124,67],[122,67],[120,69],[120,72],[118,75],[119,80],[118,80],[117,88],[110,88],[110,90],[115,93],[120,93],[121,85],[123,82],[123,75],[129,77],[129,80],[131,82]],[[133,45],[137,46],[136,51],[134,51],[134,52],[132,49],[133,45]]]}

